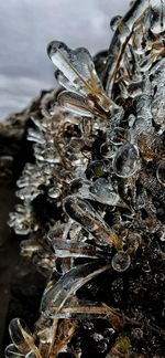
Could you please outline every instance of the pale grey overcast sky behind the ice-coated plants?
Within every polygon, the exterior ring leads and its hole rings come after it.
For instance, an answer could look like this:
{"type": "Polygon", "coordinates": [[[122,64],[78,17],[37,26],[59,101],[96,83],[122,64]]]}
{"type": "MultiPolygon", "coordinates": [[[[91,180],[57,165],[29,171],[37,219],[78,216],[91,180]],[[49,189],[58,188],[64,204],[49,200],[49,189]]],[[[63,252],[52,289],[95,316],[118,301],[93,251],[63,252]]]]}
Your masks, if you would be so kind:
{"type": "Polygon", "coordinates": [[[94,54],[109,46],[110,19],[130,0],[0,1],[0,120],[22,109],[41,88],[55,86],[47,43],[62,40],[94,54]]]}

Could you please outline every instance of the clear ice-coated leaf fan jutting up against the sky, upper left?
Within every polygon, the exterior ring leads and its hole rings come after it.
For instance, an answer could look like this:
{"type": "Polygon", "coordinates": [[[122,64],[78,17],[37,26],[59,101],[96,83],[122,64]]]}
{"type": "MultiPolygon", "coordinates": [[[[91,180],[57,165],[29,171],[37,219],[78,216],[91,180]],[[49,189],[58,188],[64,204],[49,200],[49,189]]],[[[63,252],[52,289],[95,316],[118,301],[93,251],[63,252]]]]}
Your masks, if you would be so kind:
{"type": "Polygon", "coordinates": [[[53,41],[47,48],[47,53],[58,69],[56,77],[66,90],[87,96],[89,105],[92,103],[106,113],[109,113],[111,107],[118,107],[107,97],[96,73],[92,57],[86,49],[79,48],[73,51],[65,43],[53,41]]]}

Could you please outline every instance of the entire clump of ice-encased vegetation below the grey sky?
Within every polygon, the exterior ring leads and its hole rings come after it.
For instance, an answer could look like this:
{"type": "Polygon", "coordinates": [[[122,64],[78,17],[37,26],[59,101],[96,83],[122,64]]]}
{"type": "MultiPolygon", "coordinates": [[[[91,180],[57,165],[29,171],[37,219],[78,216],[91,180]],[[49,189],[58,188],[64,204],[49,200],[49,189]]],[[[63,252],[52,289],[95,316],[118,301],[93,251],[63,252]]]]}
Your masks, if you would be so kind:
{"type": "Polygon", "coordinates": [[[20,115],[32,158],[9,219],[47,286],[6,358],[165,357],[164,17],[164,0],[133,1],[94,59],[48,44],[59,87],[20,115]]]}

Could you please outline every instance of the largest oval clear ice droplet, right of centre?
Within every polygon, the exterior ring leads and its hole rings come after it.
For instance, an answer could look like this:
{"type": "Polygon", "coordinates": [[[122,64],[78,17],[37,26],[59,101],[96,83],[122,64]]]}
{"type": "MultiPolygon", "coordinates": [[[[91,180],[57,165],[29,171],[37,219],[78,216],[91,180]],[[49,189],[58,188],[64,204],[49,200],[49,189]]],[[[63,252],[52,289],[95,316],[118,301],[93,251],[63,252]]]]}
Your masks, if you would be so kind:
{"type": "Polygon", "coordinates": [[[129,178],[139,169],[139,149],[128,143],[118,149],[113,159],[113,170],[118,177],[129,178]]]}

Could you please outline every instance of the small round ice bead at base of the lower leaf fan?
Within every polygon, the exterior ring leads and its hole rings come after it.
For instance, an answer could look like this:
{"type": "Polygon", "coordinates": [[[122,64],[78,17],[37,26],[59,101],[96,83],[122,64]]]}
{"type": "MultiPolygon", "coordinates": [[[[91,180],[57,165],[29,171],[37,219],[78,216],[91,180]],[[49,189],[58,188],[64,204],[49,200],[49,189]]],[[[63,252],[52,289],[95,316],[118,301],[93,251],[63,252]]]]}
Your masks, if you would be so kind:
{"type": "Polygon", "coordinates": [[[111,264],[113,270],[118,272],[123,272],[130,266],[131,259],[130,255],[125,252],[117,252],[112,257],[111,264]]]}

